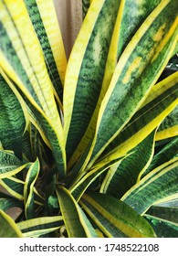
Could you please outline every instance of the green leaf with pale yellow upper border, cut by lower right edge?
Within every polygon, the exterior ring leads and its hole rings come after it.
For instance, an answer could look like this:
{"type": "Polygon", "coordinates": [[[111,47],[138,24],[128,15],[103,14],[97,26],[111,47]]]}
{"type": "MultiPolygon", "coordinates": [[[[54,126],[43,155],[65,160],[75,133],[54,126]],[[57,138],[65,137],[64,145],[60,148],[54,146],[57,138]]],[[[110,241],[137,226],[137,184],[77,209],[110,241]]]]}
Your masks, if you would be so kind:
{"type": "Polygon", "coordinates": [[[123,196],[126,204],[143,214],[164,197],[178,192],[178,158],[154,169],[123,196]]]}

